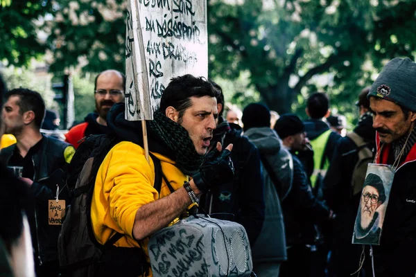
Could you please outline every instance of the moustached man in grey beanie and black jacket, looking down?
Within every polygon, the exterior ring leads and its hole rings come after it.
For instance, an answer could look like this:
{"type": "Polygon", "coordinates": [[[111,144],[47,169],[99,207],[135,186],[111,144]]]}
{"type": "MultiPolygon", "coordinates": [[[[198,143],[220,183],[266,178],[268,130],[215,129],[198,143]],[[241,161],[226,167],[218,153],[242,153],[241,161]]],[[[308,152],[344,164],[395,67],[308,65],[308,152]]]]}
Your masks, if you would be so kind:
{"type": "Polygon", "coordinates": [[[390,60],[367,96],[376,129],[376,163],[396,169],[380,246],[373,247],[378,277],[416,273],[415,76],[416,63],[409,58],[390,60]]]}

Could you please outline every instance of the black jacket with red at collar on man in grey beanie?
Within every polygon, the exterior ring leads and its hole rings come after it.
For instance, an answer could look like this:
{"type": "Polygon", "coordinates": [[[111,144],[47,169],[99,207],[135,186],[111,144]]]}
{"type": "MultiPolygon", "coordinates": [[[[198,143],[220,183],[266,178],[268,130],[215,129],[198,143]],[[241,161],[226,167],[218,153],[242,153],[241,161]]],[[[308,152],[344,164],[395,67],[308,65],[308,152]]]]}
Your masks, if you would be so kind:
{"type": "MultiPolygon", "coordinates": [[[[379,144],[379,138],[376,137],[379,144]]],[[[377,163],[388,163],[391,145],[384,145],[377,163]]],[[[374,246],[376,276],[413,277],[416,273],[416,145],[395,173],[381,232],[374,246]]]]}

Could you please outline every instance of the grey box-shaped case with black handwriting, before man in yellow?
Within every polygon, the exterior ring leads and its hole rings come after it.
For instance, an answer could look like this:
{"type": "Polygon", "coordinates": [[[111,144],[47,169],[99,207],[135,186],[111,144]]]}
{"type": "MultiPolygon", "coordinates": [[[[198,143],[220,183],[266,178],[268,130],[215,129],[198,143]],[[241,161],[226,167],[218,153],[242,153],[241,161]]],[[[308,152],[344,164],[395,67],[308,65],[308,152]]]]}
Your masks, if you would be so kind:
{"type": "Polygon", "coordinates": [[[148,243],[153,276],[250,276],[252,256],[241,224],[205,215],[155,233],[148,243]]]}

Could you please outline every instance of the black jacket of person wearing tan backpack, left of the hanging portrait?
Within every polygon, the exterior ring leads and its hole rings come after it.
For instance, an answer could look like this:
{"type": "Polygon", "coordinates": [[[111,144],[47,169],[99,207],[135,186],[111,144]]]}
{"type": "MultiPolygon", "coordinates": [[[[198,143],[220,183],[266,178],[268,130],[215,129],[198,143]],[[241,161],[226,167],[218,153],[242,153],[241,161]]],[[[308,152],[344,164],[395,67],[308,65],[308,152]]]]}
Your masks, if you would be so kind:
{"type": "MultiPolygon", "coordinates": [[[[361,116],[354,132],[361,136],[368,148],[375,148],[376,131],[372,127],[370,113],[361,116]]],[[[362,247],[352,244],[354,223],[361,193],[352,195],[352,174],[358,161],[357,145],[345,136],[338,141],[324,179],[324,199],[336,213],[333,220],[333,255],[330,276],[349,276],[358,269],[362,247]],[[348,154],[349,153],[349,154],[348,154]],[[333,275],[332,275],[333,274],[333,275]]]]}

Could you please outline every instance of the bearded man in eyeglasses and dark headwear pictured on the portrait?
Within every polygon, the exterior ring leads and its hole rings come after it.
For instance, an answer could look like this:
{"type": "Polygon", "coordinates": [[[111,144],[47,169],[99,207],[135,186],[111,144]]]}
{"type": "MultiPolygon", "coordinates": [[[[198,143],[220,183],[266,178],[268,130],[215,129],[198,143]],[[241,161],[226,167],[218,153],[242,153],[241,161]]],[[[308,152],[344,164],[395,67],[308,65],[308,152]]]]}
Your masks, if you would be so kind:
{"type": "Polygon", "coordinates": [[[367,175],[363,186],[354,242],[373,244],[380,238],[381,217],[376,210],[385,202],[385,190],[381,178],[373,173],[367,175]]]}

